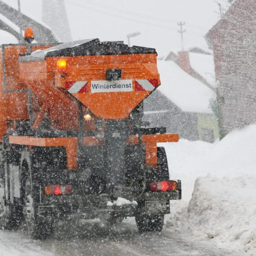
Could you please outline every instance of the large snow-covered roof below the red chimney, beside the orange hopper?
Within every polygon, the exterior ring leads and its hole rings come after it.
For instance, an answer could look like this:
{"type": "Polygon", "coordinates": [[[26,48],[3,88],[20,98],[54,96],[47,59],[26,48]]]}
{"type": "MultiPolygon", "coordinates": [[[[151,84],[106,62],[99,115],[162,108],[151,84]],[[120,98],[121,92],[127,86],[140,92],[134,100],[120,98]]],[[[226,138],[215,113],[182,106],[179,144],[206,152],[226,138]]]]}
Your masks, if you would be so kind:
{"type": "Polygon", "coordinates": [[[212,114],[209,100],[215,93],[183,71],[174,61],[158,60],[161,86],[157,89],[184,112],[212,114]]]}

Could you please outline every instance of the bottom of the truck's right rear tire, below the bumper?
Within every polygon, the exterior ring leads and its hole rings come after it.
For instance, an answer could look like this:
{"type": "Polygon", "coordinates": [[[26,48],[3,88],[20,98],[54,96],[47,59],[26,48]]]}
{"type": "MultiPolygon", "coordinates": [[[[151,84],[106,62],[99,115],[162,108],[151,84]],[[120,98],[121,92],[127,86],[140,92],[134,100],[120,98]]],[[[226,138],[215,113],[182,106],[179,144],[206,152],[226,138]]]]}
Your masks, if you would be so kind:
{"type": "Polygon", "coordinates": [[[135,220],[140,233],[161,231],[164,215],[137,215],[135,216],[135,220]]]}

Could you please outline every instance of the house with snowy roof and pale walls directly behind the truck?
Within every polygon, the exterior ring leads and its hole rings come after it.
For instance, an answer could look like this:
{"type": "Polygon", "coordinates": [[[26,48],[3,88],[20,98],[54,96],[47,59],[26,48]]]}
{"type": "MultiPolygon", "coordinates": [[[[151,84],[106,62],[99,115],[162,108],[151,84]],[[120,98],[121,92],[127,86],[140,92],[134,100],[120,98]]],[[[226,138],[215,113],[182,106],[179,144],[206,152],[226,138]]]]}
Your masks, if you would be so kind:
{"type": "Polygon", "coordinates": [[[164,126],[180,138],[214,142],[219,137],[218,124],[209,101],[216,97],[215,92],[191,76],[186,63],[181,68],[174,60],[158,61],[161,86],[144,100],[143,120],[164,126]]]}

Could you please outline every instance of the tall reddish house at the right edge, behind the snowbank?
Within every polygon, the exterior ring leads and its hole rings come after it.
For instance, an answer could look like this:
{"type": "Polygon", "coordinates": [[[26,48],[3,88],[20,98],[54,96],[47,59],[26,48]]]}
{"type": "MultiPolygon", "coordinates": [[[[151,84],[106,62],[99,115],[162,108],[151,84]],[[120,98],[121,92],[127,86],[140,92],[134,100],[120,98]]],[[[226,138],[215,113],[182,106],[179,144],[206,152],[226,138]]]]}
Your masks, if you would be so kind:
{"type": "Polygon", "coordinates": [[[237,0],[206,34],[214,52],[221,138],[256,121],[256,1],[237,0]]]}

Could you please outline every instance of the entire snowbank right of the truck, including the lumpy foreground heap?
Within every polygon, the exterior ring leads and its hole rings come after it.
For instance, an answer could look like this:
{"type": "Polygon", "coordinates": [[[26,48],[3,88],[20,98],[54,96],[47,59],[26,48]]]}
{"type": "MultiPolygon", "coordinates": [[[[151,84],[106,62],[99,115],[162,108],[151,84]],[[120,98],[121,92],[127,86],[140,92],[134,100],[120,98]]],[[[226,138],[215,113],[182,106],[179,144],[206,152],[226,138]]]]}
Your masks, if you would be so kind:
{"type": "Polygon", "coordinates": [[[171,202],[167,227],[256,255],[256,125],[215,144],[185,140],[178,144],[168,145],[167,154],[172,178],[184,178],[185,200],[171,202]]]}

